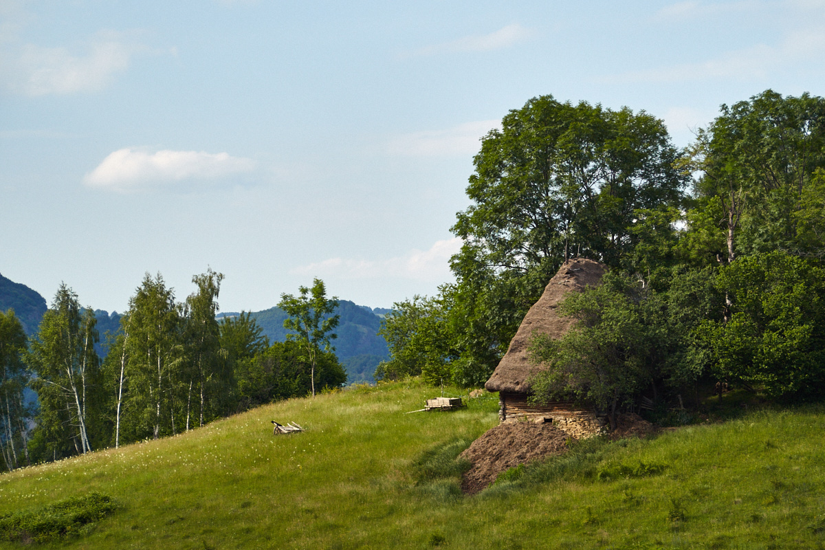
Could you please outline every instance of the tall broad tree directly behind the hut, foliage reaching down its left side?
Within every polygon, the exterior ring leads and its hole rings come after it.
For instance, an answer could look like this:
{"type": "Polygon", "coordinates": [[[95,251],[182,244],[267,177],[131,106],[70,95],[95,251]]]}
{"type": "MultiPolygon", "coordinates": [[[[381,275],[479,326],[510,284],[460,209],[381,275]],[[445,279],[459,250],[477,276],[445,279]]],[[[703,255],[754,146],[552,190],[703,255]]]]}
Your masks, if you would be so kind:
{"type": "Polygon", "coordinates": [[[656,236],[635,228],[681,206],[678,158],[662,121],[643,111],[540,96],[504,117],[474,157],[473,204],[452,228],[464,240],[451,262],[464,378],[492,371],[565,259],[619,266],[656,236]]]}

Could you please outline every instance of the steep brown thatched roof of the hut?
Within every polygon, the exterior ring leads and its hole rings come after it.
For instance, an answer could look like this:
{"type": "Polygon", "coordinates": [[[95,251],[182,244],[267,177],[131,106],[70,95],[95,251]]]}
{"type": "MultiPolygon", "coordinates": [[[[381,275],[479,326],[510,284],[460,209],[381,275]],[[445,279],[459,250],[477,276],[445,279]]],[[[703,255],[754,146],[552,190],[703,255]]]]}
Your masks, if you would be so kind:
{"type": "Polygon", "coordinates": [[[493,376],[484,384],[490,392],[528,393],[527,379],[540,371],[540,367],[530,363],[527,346],[534,333],[548,334],[560,339],[573,325],[570,317],[561,317],[556,308],[568,292],[581,292],[587,286],[596,286],[605,274],[605,266],[597,261],[576,258],[565,261],[559,272],[544,288],[544,294],[533,304],[510,341],[507,353],[498,363],[493,376]]]}

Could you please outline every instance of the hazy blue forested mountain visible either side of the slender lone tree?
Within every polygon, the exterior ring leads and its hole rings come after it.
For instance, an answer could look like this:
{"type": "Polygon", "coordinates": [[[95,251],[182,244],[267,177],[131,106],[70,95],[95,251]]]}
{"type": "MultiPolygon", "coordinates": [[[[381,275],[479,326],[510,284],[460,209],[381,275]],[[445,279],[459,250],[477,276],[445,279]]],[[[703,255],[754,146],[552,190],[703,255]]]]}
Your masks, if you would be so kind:
{"type": "MultiPolygon", "coordinates": [[[[335,329],[337,338],[332,341],[335,355],[347,370],[347,382],[373,382],[375,367],[389,357],[387,342],[378,335],[381,319],[390,309],[368,308],[349,300],[340,300],[335,313],[341,317],[335,329]]],[[[237,312],[219,313],[218,317],[237,316],[237,312]]],[[[280,308],[269,308],[250,313],[270,341],[282,342],[289,334],[284,328],[286,313],[280,308]]]]}

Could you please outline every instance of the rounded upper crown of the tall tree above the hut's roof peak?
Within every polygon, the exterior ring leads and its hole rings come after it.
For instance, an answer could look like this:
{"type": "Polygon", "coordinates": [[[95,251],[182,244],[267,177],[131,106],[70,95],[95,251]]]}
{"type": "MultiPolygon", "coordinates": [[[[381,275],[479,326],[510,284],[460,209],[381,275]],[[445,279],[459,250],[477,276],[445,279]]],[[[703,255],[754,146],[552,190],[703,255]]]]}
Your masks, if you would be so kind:
{"type": "Polygon", "coordinates": [[[686,184],[661,120],[553,96],[511,110],[474,157],[454,232],[488,266],[526,271],[544,258],[602,257],[633,243],[637,209],[676,206],[686,184]]]}

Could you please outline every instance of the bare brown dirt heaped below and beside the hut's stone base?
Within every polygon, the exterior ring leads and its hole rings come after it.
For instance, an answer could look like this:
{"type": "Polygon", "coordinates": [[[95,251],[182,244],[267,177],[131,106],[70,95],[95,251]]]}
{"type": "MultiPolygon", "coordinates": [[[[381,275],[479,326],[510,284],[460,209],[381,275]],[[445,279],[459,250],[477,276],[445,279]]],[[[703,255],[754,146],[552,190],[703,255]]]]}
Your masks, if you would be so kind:
{"type": "MultiPolygon", "coordinates": [[[[656,425],[632,412],[616,416],[611,440],[644,437],[657,431],[656,425]]],[[[464,473],[461,490],[474,495],[496,481],[498,474],[519,464],[563,454],[567,441],[575,440],[552,424],[513,422],[497,425],[475,440],[462,454],[473,467],[464,473]]]]}

